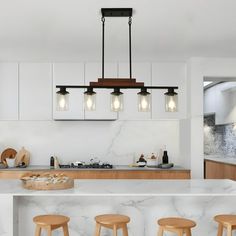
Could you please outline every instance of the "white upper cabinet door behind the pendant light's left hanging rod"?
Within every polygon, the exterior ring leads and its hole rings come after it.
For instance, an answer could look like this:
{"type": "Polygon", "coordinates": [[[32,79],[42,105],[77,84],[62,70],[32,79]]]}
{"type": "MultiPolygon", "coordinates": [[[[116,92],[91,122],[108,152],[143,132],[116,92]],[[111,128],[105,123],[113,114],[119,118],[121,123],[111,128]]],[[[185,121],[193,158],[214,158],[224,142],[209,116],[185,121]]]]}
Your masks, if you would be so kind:
{"type": "MultiPolygon", "coordinates": [[[[117,64],[105,64],[105,77],[117,78],[117,64]]],[[[85,65],[85,84],[89,85],[90,81],[97,81],[101,78],[101,64],[100,63],[86,63],[85,65]]],[[[85,111],[86,120],[115,120],[117,119],[117,112],[110,110],[110,93],[111,89],[97,89],[94,90],[96,94],[96,110],[85,111]]]]}

